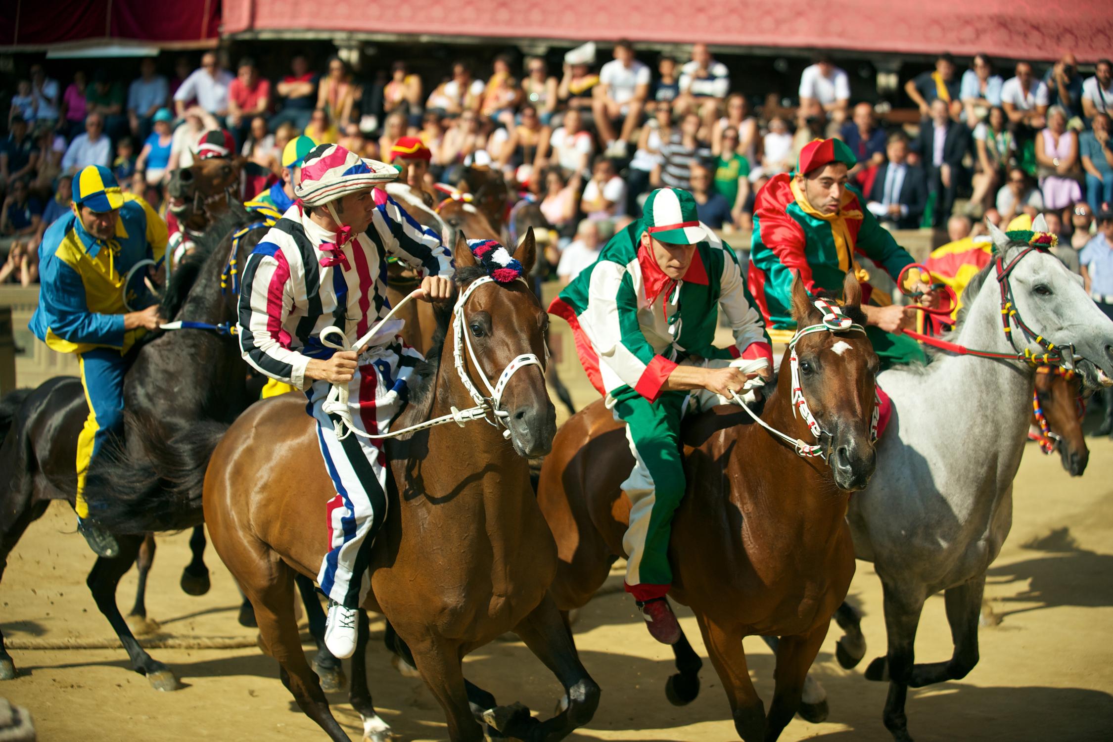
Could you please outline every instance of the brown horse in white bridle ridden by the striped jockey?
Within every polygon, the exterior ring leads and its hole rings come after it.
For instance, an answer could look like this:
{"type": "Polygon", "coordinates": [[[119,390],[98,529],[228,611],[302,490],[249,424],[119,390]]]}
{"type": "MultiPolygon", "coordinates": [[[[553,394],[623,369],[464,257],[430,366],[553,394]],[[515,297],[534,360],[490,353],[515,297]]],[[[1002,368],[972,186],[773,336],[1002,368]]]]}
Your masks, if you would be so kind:
{"type": "MultiPolygon", "coordinates": [[[[515,254],[529,269],[532,233],[515,254]]],[[[457,244],[456,281],[465,291],[484,275],[457,244]]],[[[411,406],[395,428],[470,407],[460,373],[498,378],[523,353],[543,357],[548,316],[520,281],[480,285],[456,313],[439,355],[420,369],[411,406]],[[470,333],[475,359],[454,367],[454,343],[470,333]]],[[[422,677],[444,709],[449,736],[477,741],[483,729],[469,705],[461,660],[513,630],[556,674],[571,706],[539,722],[528,713],[481,709],[506,735],[559,740],[587,723],[599,687],[580,664],[549,583],[556,550],[530,488],[528,456],[549,451],[555,410],[539,369],[524,368],[505,386],[502,428],[479,421],[442,425],[388,442],[397,486],[387,494],[388,515],[371,556],[367,610],[386,615],[412,650],[422,677]]],[[[331,435],[326,433],[325,435],[331,435]]],[[[205,520],[214,545],[255,605],[267,651],[302,710],[333,740],[347,740],[302,652],[293,614],[293,575],[315,576],[328,540],[326,502],[332,481],[317,453],[305,402],[284,395],[257,403],[236,421],[217,447],[205,479],[205,520]]],[[[361,653],[357,653],[359,656],[361,653]]],[[[475,695],[473,694],[473,699],[475,695]]],[[[487,694],[487,698],[489,694],[487,694]]],[[[385,739],[370,694],[354,699],[366,730],[385,739]]]]}

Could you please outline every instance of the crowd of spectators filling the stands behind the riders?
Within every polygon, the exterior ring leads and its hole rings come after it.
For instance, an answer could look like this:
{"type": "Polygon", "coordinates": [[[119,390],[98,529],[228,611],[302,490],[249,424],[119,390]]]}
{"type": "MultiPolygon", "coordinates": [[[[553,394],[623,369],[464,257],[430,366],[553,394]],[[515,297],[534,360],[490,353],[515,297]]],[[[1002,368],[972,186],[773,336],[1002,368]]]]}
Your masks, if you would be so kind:
{"type": "Polygon", "coordinates": [[[853,185],[894,228],[942,229],[954,215],[1007,224],[1045,211],[1077,245],[1076,217],[1113,201],[1107,60],[1084,76],[1064,55],[1042,77],[1021,61],[1004,79],[985,55],[962,71],[940,55],[904,87],[918,123],[893,123],[851,100],[849,76],[826,56],[804,69],[791,91],[797,105],[786,108],[791,96],[781,90],[761,100],[740,93],[702,43],[687,60],[651,58],[627,41],[610,55],[597,59],[585,44],[561,70],[541,57],[500,55],[485,80],[460,60],[427,92],[404,60],[374,82],[357,80],[339,57],[316,69],[295,56],[274,79],[250,58],[233,70],[213,51],[196,69],[176,59],[169,77],[142,59],[127,83],[104,69],[58,81],[35,65],[11,98],[0,148],[0,250],[10,248],[0,276],[33,280],[38,240],[69,208],[69,178],[80,168],[109,166],[126,189],[158,205],[170,172],[193,162],[197,137],[218,127],[247,161],[275,174],[298,133],[376,159],[388,159],[398,138],[420,137],[432,152],[431,181],[455,184],[465,166],[496,168],[540,202],[572,250],[556,268],[562,278],[637,218],[656,187],[690,189],[715,229],[748,230],[757,191],[824,136],[857,154],[853,185]]]}

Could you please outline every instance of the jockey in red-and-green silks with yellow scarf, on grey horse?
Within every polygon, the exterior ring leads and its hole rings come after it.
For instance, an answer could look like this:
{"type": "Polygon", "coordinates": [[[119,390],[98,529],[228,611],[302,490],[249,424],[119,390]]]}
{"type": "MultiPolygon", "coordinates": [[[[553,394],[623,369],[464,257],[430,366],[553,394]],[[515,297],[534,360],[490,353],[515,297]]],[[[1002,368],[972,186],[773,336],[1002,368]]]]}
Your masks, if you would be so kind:
{"type": "MultiPolygon", "coordinates": [[[[769,180],[754,202],[749,288],[766,323],[796,329],[792,320],[792,275],[799,274],[809,293],[837,295],[849,270],[863,285],[866,334],[883,365],[924,362],[919,345],[898,329],[915,324],[915,311],[894,306],[889,296],[874,291],[869,274],[855,259],[865,255],[894,280],[915,263],[908,251],[865,208],[861,194],[847,185],[854,154],[838,139],[816,139],[800,150],[796,172],[769,180]]],[[[922,290],[929,287],[920,286],[922,290]]],[[[932,306],[930,295],[924,304],[932,306]]]]}

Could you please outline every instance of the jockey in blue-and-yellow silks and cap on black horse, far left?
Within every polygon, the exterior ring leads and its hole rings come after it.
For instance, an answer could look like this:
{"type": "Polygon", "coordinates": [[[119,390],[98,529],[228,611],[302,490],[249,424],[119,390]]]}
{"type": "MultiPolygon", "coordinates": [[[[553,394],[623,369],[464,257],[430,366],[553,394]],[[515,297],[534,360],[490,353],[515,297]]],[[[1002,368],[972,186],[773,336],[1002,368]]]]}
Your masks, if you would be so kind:
{"type": "Polygon", "coordinates": [[[108,435],[121,433],[131,347],[160,323],[154,297],[125,281],[140,261],[160,261],[166,243],[162,218],[141,198],[122,194],[111,170],[90,165],[73,176],[72,212],[55,221],[39,246],[41,287],[30,328],[50,348],[78,356],[89,416],[78,436],[75,509],[78,530],[101,556],[119,547],[87,520],[86,473],[108,435]],[[128,311],[128,305],[146,308],[128,311]]]}

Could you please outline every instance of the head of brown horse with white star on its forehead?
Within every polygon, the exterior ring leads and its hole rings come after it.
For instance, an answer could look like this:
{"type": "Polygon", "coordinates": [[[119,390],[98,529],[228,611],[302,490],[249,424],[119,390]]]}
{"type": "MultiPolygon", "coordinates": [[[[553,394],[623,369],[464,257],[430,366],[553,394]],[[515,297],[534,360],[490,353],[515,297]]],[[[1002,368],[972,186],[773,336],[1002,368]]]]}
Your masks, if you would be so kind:
{"type": "MultiPolygon", "coordinates": [[[[861,287],[853,273],[847,274],[843,294],[843,313],[865,326],[861,287]]],[[[800,328],[824,324],[824,314],[799,277],[792,281],[792,317],[800,328]]],[[[861,489],[877,463],[870,428],[880,362],[874,346],[859,332],[810,333],[797,340],[796,357],[800,392],[827,438],[835,484],[847,492],[861,489]]],[[[781,367],[782,376],[785,372],[781,367]]]]}

